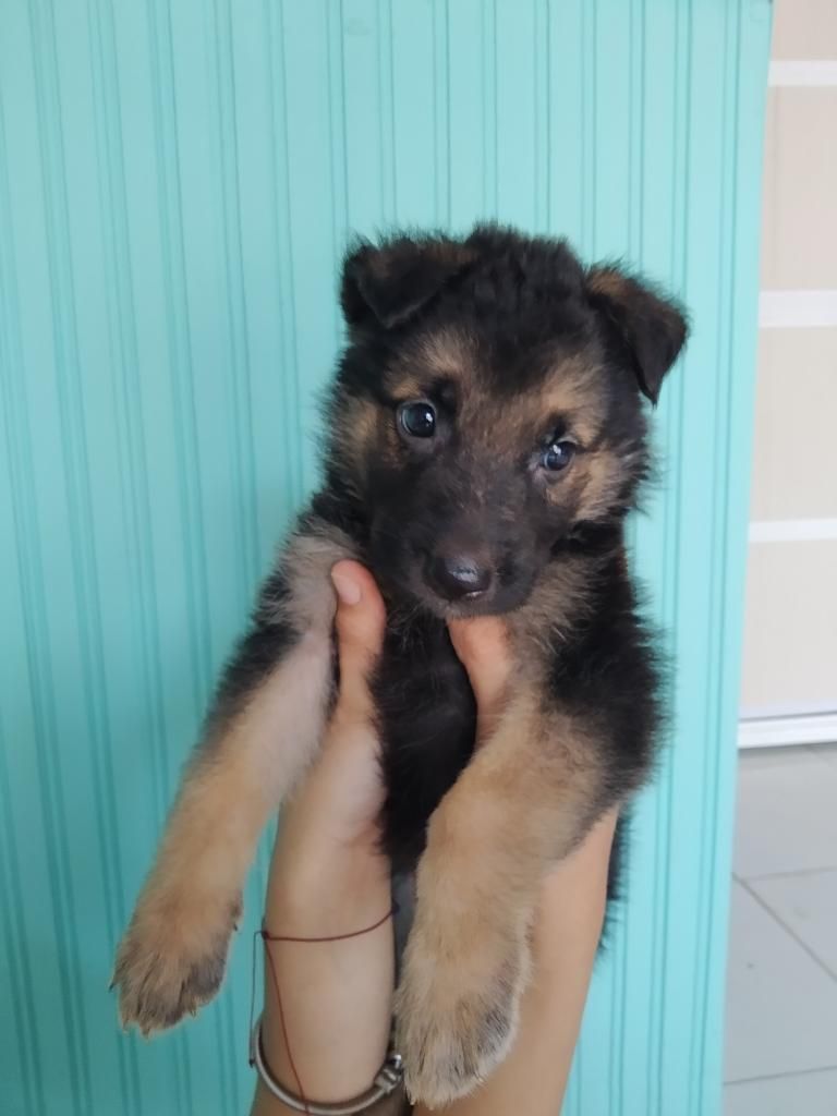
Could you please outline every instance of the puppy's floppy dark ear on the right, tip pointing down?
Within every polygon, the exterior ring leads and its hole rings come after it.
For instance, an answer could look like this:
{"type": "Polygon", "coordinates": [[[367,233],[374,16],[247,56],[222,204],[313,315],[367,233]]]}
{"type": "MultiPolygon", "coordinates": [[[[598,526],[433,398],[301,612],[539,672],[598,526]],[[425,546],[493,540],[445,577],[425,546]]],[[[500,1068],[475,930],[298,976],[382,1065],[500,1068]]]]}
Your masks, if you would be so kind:
{"type": "Polygon", "coordinates": [[[628,356],[643,394],[656,403],[663,376],[689,335],[683,310],[653,287],[607,266],[587,272],[587,297],[628,356]]]}

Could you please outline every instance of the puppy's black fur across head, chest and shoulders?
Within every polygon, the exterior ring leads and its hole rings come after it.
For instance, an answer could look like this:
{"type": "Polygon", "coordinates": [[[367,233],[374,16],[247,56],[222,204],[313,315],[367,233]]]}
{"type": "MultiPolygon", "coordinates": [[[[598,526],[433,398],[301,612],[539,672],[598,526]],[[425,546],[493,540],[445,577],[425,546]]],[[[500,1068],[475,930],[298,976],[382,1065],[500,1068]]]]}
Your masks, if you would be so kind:
{"type": "MultiPolygon", "coordinates": [[[[358,246],[345,262],[341,302],[349,344],[325,412],[325,484],[300,530],[319,526],[348,536],[387,602],[372,685],[387,787],[383,839],[394,869],[414,867],[427,820],[474,747],[474,698],[448,619],[513,613],[550,568],[570,559],[585,564],[584,606],[566,602],[560,631],[547,616],[533,636],[547,657],[547,699],[583,719],[605,756],[591,824],[646,776],[660,724],[656,657],[623,533],[648,472],[641,394],[656,401],[685,340],[682,311],[612,267],[585,269],[564,241],[492,225],[463,240],[397,237],[358,246]],[[604,420],[596,444],[583,451],[612,455],[618,483],[605,503],[587,516],[570,496],[548,501],[545,482],[511,443],[494,459],[484,445],[474,448],[460,423],[464,401],[456,392],[465,388],[422,365],[422,343],[451,329],[470,340],[468,389],[475,393],[478,419],[496,427],[498,445],[509,408],[540,389],[562,360],[595,369],[585,391],[604,420]],[[402,446],[393,429],[405,367],[422,379],[421,394],[436,406],[444,430],[432,455],[402,446]],[[345,429],[358,403],[379,419],[372,445],[356,445],[345,429]],[[490,564],[488,599],[451,603],[429,587],[427,556],[449,545],[471,548],[490,564]]],[[[546,436],[562,416],[543,421],[546,436]]],[[[282,591],[278,573],[263,599],[282,591]]],[[[271,615],[260,607],[228,672],[223,705],[234,704],[235,691],[243,694],[295,642],[297,634],[277,631],[271,615]]],[[[612,889],[616,860],[615,854],[612,889]]]]}

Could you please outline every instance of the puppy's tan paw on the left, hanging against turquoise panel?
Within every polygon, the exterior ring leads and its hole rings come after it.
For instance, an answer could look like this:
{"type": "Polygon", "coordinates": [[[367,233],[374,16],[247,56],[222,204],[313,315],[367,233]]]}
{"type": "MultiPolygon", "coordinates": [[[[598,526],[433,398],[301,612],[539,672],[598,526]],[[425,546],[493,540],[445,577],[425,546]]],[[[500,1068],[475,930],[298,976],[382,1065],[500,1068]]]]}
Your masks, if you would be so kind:
{"type": "Polygon", "coordinates": [[[240,896],[184,903],[152,891],[142,897],[114,966],[122,1026],[148,1036],[194,1016],[221,987],[240,916],[240,896]]]}

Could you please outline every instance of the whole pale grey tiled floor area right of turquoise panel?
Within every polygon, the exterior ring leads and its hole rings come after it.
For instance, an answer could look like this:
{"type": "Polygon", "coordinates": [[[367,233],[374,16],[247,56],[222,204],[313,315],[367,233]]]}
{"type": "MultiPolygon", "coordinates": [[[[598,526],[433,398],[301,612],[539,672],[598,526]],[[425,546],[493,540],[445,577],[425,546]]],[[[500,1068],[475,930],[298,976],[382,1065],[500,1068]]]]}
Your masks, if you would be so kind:
{"type": "Polygon", "coordinates": [[[837,1116],[837,747],[742,754],[725,1116],[837,1116]]]}

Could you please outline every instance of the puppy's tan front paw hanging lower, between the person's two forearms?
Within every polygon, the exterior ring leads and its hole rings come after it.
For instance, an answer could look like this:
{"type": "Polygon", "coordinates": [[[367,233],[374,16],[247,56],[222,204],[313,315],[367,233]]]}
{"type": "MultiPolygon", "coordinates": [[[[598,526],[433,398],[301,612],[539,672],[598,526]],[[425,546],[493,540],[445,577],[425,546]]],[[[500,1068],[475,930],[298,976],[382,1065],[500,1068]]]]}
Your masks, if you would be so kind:
{"type": "Polygon", "coordinates": [[[407,1095],[430,1108],[471,1093],[506,1057],[529,969],[525,935],[483,930],[450,944],[414,927],[396,994],[407,1095]]]}

